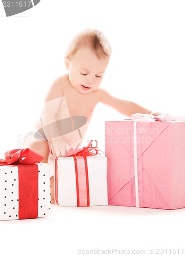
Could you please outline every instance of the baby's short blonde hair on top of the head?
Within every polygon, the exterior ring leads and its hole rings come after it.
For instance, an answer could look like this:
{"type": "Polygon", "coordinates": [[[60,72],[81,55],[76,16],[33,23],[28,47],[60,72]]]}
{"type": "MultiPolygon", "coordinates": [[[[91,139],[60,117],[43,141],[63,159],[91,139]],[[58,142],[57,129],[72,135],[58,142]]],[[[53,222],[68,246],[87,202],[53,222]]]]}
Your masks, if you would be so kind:
{"type": "Polygon", "coordinates": [[[88,28],[75,35],[68,45],[65,57],[72,57],[81,47],[90,48],[98,59],[111,55],[109,41],[100,30],[88,28]]]}

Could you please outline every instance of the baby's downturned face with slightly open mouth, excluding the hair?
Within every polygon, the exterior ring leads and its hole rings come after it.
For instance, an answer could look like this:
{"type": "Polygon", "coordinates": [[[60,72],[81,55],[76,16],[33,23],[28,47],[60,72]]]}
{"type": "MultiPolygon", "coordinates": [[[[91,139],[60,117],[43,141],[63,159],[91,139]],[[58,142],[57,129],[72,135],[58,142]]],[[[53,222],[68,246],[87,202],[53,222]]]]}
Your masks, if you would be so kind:
{"type": "Polygon", "coordinates": [[[98,59],[89,48],[79,49],[65,62],[72,87],[83,94],[99,88],[108,62],[109,57],[98,59]]]}

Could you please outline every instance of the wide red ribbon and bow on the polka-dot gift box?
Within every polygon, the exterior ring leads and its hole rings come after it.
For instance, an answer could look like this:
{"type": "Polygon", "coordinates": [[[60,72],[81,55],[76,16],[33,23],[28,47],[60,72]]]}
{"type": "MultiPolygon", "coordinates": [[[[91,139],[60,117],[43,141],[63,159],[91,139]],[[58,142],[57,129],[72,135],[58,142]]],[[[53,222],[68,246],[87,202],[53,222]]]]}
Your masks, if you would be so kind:
{"type": "Polygon", "coordinates": [[[18,167],[19,219],[38,217],[38,165],[43,157],[30,148],[9,150],[0,165],[16,165],[18,167]]]}

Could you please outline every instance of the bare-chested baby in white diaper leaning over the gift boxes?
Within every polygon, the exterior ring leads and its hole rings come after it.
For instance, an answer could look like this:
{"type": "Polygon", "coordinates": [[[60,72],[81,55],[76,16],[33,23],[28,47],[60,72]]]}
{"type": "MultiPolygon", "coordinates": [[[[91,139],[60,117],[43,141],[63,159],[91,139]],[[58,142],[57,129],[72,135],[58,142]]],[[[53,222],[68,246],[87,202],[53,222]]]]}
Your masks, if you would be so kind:
{"type": "MultiPolygon", "coordinates": [[[[48,162],[50,151],[54,156],[64,156],[71,147],[83,141],[98,102],[129,117],[137,112],[157,115],[100,88],[110,56],[110,44],[99,30],[86,29],[73,38],[65,55],[68,72],[52,84],[36,122],[37,129],[24,142],[24,147],[43,155],[43,162],[48,162]]],[[[51,202],[54,203],[53,176],[51,202]]]]}

